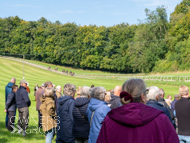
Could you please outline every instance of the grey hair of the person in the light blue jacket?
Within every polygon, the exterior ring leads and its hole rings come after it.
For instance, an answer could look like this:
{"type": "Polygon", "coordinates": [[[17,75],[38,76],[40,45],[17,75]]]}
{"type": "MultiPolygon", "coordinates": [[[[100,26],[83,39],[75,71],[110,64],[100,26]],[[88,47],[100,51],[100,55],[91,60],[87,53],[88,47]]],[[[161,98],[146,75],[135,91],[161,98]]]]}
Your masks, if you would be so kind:
{"type": "Polygon", "coordinates": [[[90,93],[92,98],[96,98],[98,100],[105,99],[106,89],[104,87],[94,87],[90,93]]]}

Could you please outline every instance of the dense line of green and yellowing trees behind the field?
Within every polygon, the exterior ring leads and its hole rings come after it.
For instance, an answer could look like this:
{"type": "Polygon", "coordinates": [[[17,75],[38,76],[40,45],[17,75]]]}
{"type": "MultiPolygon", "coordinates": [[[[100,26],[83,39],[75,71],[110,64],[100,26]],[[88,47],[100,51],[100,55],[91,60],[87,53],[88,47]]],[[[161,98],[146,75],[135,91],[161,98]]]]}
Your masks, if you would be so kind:
{"type": "Polygon", "coordinates": [[[139,24],[112,27],[0,18],[0,53],[121,73],[189,70],[190,0],[177,5],[170,20],[164,6],[145,14],[139,24]]]}

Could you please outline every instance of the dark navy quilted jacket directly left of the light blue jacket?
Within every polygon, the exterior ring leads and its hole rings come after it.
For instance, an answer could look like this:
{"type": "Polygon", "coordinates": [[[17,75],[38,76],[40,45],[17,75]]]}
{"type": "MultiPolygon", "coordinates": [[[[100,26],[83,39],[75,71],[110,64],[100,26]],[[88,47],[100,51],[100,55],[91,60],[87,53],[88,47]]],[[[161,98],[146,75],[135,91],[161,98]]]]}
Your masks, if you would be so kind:
{"type": "Polygon", "coordinates": [[[89,136],[90,125],[86,114],[89,102],[90,99],[85,97],[79,97],[75,100],[73,109],[73,136],[75,138],[88,138],[89,136]]]}

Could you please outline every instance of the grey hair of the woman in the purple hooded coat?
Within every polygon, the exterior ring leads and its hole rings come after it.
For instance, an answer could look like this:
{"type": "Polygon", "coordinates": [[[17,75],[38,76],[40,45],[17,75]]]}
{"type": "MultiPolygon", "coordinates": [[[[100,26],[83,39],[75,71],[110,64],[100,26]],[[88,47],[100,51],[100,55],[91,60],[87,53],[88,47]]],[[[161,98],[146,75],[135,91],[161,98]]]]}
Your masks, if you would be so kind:
{"type": "Polygon", "coordinates": [[[134,102],[140,102],[141,94],[145,95],[146,85],[142,79],[130,79],[123,84],[122,91],[128,92],[134,102]]]}

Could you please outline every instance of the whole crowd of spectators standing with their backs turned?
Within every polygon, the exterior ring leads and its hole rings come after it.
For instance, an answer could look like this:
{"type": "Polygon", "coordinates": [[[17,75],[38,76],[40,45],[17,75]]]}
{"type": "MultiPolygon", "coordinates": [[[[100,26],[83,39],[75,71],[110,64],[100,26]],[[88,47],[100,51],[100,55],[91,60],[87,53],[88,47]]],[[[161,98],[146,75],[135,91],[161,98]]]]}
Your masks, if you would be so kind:
{"type": "MultiPolygon", "coordinates": [[[[12,131],[19,113],[18,133],[26,136],[29,84],[12,78],[5,87],[6,127],[12,131]]],[[[142,79],[127,80],[106,91],[104,87],[79,87],[67,83],[55,86],[47,81],[34,87],[38,127],[45,142],[56,143],[179,143],[190,142],[190,101],[187,86],[179,94],[146,87],[142,79]],[[63,90],[63,92],[62,92],[63,90]]]]}

